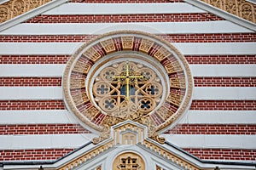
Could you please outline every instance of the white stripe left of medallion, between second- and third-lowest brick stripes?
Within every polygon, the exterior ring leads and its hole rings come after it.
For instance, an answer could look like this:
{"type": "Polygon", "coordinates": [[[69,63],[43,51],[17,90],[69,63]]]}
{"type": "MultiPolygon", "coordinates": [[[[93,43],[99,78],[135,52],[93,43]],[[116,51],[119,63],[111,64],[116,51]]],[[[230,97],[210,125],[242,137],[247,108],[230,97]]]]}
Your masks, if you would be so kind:
{"type": "Polygon", "coordinates": [[[0,124],[78,124],[67,110],[0,111],[0,124]]]}

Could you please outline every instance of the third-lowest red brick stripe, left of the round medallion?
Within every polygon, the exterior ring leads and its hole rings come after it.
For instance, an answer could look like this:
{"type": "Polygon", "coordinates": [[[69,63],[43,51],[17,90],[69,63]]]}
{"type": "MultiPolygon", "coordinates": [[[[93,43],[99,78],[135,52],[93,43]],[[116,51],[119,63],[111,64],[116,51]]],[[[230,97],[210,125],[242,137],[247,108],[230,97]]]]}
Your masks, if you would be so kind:
{"type": "Polygon", "coordinates": [[[63,100],[0,100],[0,111],[65,110],[63,100]]]}

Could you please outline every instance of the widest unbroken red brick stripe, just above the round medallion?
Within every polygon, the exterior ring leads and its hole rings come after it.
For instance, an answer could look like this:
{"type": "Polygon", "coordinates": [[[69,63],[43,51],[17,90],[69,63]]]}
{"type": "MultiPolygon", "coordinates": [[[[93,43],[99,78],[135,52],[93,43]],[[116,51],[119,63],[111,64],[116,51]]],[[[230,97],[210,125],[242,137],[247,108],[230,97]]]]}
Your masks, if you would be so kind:
{"type": "Polygon", "coordinates": [[[224,20],[214,14],[65,14],[38,15],[26,23],[127,23],[127,22],[200,22],[224,20]]]}

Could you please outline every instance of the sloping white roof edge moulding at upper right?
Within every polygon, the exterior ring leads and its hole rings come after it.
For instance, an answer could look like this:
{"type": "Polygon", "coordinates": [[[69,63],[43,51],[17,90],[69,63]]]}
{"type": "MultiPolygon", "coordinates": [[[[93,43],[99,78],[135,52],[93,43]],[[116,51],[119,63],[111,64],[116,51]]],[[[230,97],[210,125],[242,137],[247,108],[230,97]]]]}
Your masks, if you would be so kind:
{"type": "Polygon", "coordinates": [[[202,2],[200,0],[183,0],[183,1],[185,3],[190,3],[191,5],[194,5],[198,8],[207,10],[208,12],[210,12],[212,14],[217,14],[218,16],[220,16],[226,20],[230,20],[231,22],[233,22],[239,26],[243,26],[249,30],[256,31],[256,24],[254,24],[253,22],[242,19],[241,17],[238,17],[235,14],[230,14],[221,8],[214,7],[208,3],[202,2]]]}

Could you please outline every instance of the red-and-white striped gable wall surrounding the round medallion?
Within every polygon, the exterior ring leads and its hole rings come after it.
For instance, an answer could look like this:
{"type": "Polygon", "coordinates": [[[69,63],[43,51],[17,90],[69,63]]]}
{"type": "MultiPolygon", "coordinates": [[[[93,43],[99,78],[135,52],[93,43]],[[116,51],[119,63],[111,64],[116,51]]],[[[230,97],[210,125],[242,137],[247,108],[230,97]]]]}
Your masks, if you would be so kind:
{"type": "MultiPolygon", "coordinates": [[[[13,164],[9,161],[15,161],[20,166],[17,168],[21,168],[20,160],[26,160],[27,164],[39,160],[36,168],[39,164],[51,167],[52,162],[79,150],[96,136],[92,130],[81,127],[67,111],[61,88],[63,70],[82,43],[120,30],[147,31],[164,38],[178,48],[189,63],[195,94],[184,119],[163,134],[168,142],[201,160],[215,160],[217,164],[216,160],[239,161],[240,164],[234,164],[238,167],[245,165],[245,160],[254,161],[254,31],[183,1],[152,0],[147,2],[157,4],[141,5],[138,1],[127,5],[116,4],[118,1],[114,0],[109,1],[112,3],[106,1],[109,4],[86,2],[63,3],[32,20],[1,31],[0,94],[4,94],[0,95],[0,126],[3,129],[0,131],[0,156],[4,161],[1,167],[11,168],[13,164]],[[133,11],[129,11],[130,5],[133,11]],[[107,6],[111,8],[106,9],[107,6]],[[95,11],[83,10],[95,7],[98,7],[95,11]],[[113,7],[120,8],[112,10],[113,7]],[[153,10],[153,7],[158,9],[153,10]],[[108,13],[101,14],[102,11],[108,13]],[[152,11],[157,14],[151,14],[152,11]]],[[[172,82],[175,82],[173,77],[172,82]]],[[[164,114],[160,116],[165,117],[164,114]]],[[[130,137],[134,131],[128,133],[130,137]]],[[[127,136],[127,139],[131,138],[127,136]]],[[[85,147],[83,153],[88,150],[90,148],[85,147]]],[[[154,150],[143,153],[152,152],[154,150]]],[[[66,162],[76,156],[68,157],[66,162]]],[[[91,162],[98,166],[102,161],[91,162]]],[[[154,161],[159,167],[168,169],[161,162],[165,161],[154,161]]]]}

